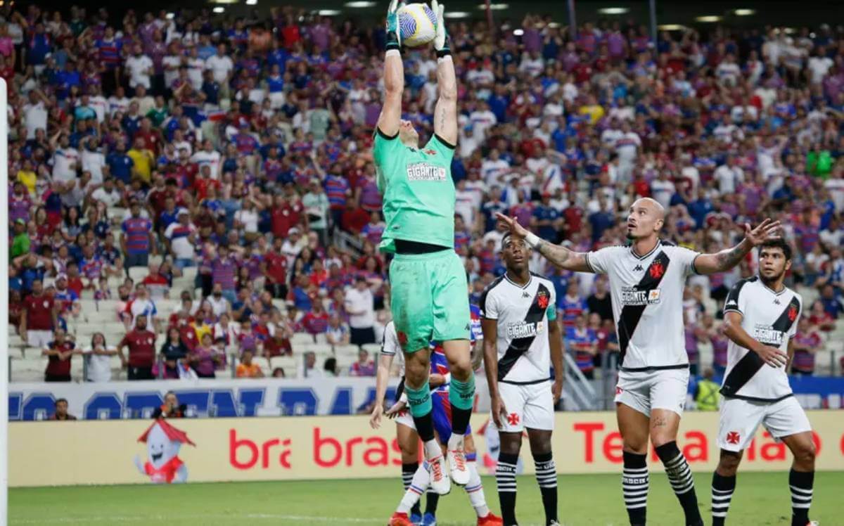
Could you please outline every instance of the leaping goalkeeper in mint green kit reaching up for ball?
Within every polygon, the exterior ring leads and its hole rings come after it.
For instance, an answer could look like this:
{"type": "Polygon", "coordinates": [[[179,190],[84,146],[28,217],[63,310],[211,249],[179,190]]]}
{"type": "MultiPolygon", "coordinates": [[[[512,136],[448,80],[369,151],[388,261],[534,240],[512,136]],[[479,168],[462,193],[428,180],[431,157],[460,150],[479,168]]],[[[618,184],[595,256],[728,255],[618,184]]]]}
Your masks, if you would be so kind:
{"type": "Polygon", "coordinates": [[[472,414],[475,390],[469,355],[466,271],[454,252],[455,189],[451,164],[457,144],[457,78],[443,9],[433,0],[439,99],[434,110],[434,137],[419,148],[419,133],[413,124],[401,119],[404,71],[397,8],[398,0],[392,0],[387,13],[384,59],[387,93],[373,152],[387,222],[379,248],[395,254],[390,265],[391,309],[404,351],[404,390],[416,431],[425,443],[430,486],[445,495],[451,491],[451,481],[446,474],[446,458],[434,437],[428,384],[432,340],[442,342],[451,371],[448,403],[452,410],[452,436],[446,457],[451,480],[457,485],[469,481],[463,435],[472,414]]]}

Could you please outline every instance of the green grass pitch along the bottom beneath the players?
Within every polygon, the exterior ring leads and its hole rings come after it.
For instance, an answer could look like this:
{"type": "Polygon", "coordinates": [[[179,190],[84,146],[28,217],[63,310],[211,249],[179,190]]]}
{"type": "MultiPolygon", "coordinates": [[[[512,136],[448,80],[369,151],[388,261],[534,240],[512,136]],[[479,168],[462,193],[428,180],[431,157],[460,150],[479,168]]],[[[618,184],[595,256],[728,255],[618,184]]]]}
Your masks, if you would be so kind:
{"type": "MultiPolygon", "coordinates": [[[[815,475],[811,517],[821,526],[844,523],[844,473],[815,475]]],[[[710,474],[695,477],[704,521],[710,523],[710,474]]],[[[543,523],[533,477],[519,477],[517,517],[522,526],[543,523]]],[[[386,524],[401,496],[394,480],[332,480],[187,485],[116,485],[17,488],[9,491],[9,524],[386,524]]],[[[487,501],[498,512],[495,480],[484,477],[487,501]]],[[[728,516],[733,525],[790,524],[786,473],[738,475],[728,516]]],[[[443,497],[442,526],[474,524],[463,491],[443,497]]],[[[619,475],[560,476],[560,519],[565,526],[627,524],[619,475]]],[[[648,524],[682,524],[679,504],[663,474],[651,475],[648,524]]]]}

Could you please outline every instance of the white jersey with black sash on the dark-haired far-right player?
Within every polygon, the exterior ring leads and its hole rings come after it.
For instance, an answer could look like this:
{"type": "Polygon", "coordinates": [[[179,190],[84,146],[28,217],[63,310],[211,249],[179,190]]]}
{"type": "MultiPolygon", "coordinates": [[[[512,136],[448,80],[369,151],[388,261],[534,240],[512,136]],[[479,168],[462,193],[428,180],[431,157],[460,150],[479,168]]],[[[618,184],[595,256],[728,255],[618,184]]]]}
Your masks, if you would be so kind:
{"type": "MultiPolygon", "coordinates": [[[[733,286],[724,313],[738,312],[742,328],[753,339],[787,352],[788,340],[797,333],[802,306],[803,298],[797,292],[788,287],[775,292],[754,276],[733,286]]],[[[768,366],[755,352],[731,340],[721,393],[736,399],[776,402],[791,396],[792,389],[786,367],[768,366]]]]}

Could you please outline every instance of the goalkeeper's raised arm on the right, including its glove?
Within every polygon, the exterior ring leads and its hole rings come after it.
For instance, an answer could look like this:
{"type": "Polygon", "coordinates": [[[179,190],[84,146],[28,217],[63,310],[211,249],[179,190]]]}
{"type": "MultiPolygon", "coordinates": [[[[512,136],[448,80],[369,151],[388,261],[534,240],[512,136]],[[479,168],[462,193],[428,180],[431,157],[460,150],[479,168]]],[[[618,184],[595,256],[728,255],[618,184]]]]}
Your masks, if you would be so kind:
{"type": "Polygon", "coordinates": [[[454,61],[446,22],[443,17],[445,6],[431,0],[431,8],[436,13],[436,85],[440,98],[434,108],[434,133],[452,146],[457,144],[457,75],[454,73],[454,61]]]}

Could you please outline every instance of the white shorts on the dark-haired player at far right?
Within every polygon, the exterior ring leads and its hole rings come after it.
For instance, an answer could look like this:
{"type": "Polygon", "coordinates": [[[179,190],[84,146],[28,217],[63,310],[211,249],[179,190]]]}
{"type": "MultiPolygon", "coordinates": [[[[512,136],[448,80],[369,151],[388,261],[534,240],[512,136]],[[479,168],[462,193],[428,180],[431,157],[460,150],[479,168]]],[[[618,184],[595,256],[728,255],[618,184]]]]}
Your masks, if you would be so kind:
{"type": "Polygon", "coordinates": [[[755,437],[760,424],[777,441],[812,431],[806,412],[793,396],[772,404],[725,398],[721,404],[718,447],[733,452],[743,451],[755,437]]]}

